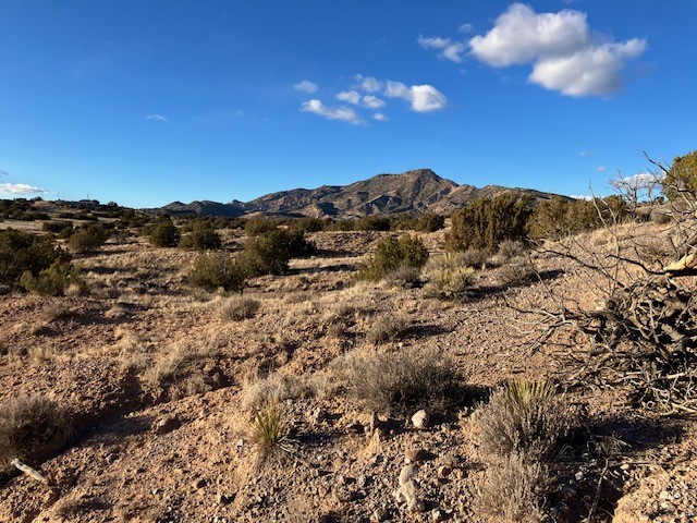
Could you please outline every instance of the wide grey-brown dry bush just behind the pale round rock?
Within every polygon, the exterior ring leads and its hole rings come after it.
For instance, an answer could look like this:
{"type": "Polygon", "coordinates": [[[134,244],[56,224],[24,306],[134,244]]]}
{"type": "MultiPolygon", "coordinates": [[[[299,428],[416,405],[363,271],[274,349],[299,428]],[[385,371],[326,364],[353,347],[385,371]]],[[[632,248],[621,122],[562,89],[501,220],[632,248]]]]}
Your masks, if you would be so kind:
{"type": "Polygon", "coordinates": [[[354,352],[334,365],[345,368],[352,396],[374,412],[408,414],[442,408],[458,381],[450,360],[438,349],[354,352]]]}

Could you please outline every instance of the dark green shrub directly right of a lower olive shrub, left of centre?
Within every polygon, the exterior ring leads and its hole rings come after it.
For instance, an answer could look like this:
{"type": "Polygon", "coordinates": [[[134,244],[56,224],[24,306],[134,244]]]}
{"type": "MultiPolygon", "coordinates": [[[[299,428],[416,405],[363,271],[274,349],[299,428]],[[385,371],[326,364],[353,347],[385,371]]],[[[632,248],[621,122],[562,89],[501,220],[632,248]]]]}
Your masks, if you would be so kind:
{"type": "Polygon", "coordinates": [[[274,229],[248,239],[240,263],[249,276],[283,275],[291,258],[308,256],[314,250],[302,233],[274,229]]]}

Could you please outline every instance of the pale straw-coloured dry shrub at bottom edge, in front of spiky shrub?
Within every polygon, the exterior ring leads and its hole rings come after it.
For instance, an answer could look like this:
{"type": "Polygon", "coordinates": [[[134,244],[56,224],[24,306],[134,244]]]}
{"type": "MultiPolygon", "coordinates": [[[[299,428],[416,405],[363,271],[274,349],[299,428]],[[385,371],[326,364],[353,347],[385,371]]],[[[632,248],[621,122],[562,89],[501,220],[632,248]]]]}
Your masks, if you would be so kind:
{"type": "Polygon", "coordinates": [[[482,511],[500,521],[537,523],[546,521],[543,504],[549,487],[543,464],[519,453],[508,454],[487,467],[479,503],[482,511]]]}

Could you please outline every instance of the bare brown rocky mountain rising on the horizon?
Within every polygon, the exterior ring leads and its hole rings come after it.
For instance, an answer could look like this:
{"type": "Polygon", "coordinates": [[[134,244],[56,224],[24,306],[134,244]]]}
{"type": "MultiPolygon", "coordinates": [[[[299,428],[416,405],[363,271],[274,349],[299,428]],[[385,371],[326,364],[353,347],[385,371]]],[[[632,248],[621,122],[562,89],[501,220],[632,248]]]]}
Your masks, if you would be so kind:
{"type": "MultiPolygon", "coordinates": [[[[294,188],[267,194],[252,202],[174,202],[152,211],[172,216],[229,216],[243,215],[313,218],[362,218],[370,215],[400,212],[450,214],[481,197],[496,197],[515,191],[538,199],[552,196],[549,193],[526,188],[509,188],[487,185],[458,185],[439,177],[430,169],[417,169],[401,174],[378,174],[350,185],[322,185],[317,188],[294,188]]],[[[570,198],[571,199],[571,198],[570,198]]]]}

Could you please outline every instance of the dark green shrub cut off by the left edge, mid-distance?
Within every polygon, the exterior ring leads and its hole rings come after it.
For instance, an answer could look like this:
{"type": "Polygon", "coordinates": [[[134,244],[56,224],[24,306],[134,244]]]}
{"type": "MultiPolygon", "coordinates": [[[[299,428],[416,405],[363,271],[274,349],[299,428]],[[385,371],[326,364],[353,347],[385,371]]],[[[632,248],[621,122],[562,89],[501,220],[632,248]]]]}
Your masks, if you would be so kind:
{"type": "Polygon", "coordinates": [[[54,248],[50,239],[8,229],[0,231],[0,283],[16,285],[28,271],[38,276],[56,260],[70,256],[54,248]]]}

